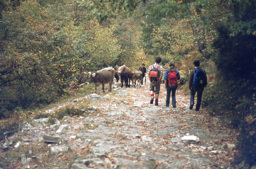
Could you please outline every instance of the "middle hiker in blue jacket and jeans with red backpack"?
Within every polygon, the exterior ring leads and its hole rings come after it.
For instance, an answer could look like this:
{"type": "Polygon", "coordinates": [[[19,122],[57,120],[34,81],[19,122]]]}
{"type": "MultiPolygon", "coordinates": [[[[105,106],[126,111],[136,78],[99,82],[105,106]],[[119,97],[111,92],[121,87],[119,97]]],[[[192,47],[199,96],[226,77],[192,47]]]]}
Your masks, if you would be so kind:
{"type": "Polygon", "coordinates": [[[172,93],[172,107],[176,108],[176,89],[178,87],[178,80],[180,79],[179,71],[175,68],[174,62],[169,63],[169,69],[164,73],[164,86],[166,89],[166,107],[169,107],[170,96],[172,93]]]}

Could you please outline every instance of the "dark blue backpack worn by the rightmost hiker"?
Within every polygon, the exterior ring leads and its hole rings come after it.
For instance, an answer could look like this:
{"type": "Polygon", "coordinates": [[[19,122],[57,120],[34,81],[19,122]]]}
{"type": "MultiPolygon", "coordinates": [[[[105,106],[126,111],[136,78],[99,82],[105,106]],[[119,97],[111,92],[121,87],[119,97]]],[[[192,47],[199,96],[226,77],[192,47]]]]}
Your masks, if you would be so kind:
{"type": "Polygon", "coordinates": [[[195,69],[193,85],[195,87],[205,87],[207,85],[207,77],[203,69],[195,69]]]}

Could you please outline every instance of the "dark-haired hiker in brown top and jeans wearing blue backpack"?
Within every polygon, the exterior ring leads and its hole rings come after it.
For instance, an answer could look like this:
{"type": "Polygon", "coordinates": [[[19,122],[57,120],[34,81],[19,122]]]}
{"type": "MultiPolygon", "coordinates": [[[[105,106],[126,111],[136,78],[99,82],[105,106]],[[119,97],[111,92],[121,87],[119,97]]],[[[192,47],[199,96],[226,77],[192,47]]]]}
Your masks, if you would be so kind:
{"type": "Polygon", "coordinates": [[[196,111],[199,111],[202,101],[203,90],[207,85],[207,76],[204,69],[201,69],[199,60],[194,61],[195,69],[191,70],[189,75],[189,91],[190,105],[189,109],[193,109],[195,104],[195,93],[197,92],[196,111]]]}

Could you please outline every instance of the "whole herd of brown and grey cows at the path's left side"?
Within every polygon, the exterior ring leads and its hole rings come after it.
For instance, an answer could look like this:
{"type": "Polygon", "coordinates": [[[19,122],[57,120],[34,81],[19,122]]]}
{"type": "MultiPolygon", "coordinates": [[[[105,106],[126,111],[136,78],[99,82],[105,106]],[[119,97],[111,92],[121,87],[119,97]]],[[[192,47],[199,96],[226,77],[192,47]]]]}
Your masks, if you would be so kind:
{"type": "Polygon", "coordinates": [[[138,85],[141,87],[142,80],[142,72],[141,71],[133,71],[126,67],[125,65],[118,67],[118,69],[114,69],[113,67],[106,67],[95,73],[88,72],[85,76],[85,83],[89,84],[93,82],[95,84],[95,91],[97,93],[97,86],[102,84],[102,90],[104,90],[104,84],[109,83],[109,89],[112,90],[112,84],[114,78],[118,82],[121,81],[121,87],[130,87],[130,81],[132,81],[132,86],[135,87],[136,81],[138,81],[138,85]]]}

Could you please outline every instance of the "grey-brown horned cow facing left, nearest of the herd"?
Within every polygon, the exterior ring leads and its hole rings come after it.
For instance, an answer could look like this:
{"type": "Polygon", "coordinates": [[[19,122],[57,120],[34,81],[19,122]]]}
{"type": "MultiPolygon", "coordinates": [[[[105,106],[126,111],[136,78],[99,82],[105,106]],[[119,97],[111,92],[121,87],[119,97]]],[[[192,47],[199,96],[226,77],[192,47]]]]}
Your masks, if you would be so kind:
{"type": "Polygon", "coordinates": [[[103,92],[104,90],[104,84],[109,83],[109,90],[112,90],[112,83],[114,80],[115,75],[115,69],[113,67],[106,67],[104,69],[101,69],[99,71],[96,71],[95,73],[91,72],[84,72],[86,74],[85,77],[85,83],[89,84],[93,82],[95,84],[95,92],[97,93],[97,86],[102,84],[103,92]]]}

